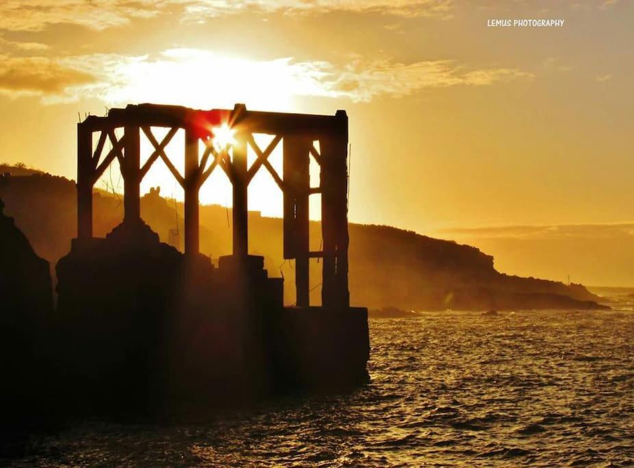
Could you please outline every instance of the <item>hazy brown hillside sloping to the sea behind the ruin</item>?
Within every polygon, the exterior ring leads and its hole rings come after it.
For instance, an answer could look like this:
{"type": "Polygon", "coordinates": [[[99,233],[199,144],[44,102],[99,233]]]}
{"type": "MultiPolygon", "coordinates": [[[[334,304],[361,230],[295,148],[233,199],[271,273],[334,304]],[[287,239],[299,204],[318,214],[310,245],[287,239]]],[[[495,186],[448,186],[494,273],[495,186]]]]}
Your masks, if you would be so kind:
{"type": "MultiPolygon", "coordinates": [[[[5,212],[31,241],[38,255],[54,266],[76,235],[75,182],[29,169],[0,166],[0,198],[5,212]],[[29,172],[25,172],[29,171],[29,172]]],[[[182,204],[157,191],[141,201],[142,217],[164,242],[182,244],[182,204]],[[179,228],[177,230],[177,228],[179,228]],[[171,231],[171,233],[170,233],[171,231]]],[[[105,236],[123,219],[118,195],[97,191],[94,234],[105,236]]],[[[201,251],[212,258],[231,252],[231,209],[201,206],[201,251]]],[[[311,249],[320,247],[320,225],[310,227],[311,249]]],[[[353,304],[405,310],[597,308],[600,297],[581,285],[519,278],[494,269],[492,256],[479,249],[415,232],[351,224],[350,289],[353,304]]],[[[249,247],[265,255],[270,275],[284,275],[285,300],[294,302],[294,271],[282,258],[281,219],[250,212],[249,247]]],[[[320,299],[320,269],[311,262],[311,300],[320,299]]]]}

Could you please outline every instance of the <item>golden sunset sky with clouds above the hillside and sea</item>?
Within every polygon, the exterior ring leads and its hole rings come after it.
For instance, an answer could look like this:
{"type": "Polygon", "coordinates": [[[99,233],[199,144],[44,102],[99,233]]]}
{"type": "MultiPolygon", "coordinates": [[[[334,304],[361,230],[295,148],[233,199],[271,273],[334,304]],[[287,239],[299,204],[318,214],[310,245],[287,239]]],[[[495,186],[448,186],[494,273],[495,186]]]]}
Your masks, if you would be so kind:
{"type": "MultiPolygon", "coordinates": [[[[127,103],[345,109],[351,221],[468,241],[509,273],[634,285],[570,260],[587,246],[533,255],[553,229],[607,255],[634,221],[633,23],[629,0],[3,0],[0,162],[75,178],[77,121],[127,103]]],[[[279,215],[265,175],[250,208],[279,215]]],[[[229,203],[222,177],[203,202],[229,203]]],[[[179,196],[164,168],[153,185],[179,196]]]]}

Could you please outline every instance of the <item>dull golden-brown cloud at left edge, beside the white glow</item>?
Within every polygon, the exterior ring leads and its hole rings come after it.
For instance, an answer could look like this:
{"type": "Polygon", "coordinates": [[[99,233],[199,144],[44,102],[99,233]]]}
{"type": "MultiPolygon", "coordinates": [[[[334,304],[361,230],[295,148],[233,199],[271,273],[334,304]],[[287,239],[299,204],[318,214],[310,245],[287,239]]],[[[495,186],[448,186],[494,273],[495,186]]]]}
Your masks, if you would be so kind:
{"type": "Polygon", "coordinates": [[[64,95],[73,88],[83,88],[94,79],[85,71],[49,58],[0,56],[0,93],[3,95],[64,95]]]}

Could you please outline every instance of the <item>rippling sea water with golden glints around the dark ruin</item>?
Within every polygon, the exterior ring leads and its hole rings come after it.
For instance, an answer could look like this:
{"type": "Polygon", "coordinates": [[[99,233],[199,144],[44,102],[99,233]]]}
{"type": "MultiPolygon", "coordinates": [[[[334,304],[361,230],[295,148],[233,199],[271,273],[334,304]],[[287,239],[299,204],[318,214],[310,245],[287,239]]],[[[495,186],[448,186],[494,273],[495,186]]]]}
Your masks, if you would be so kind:
{"type": "Polygon", "coordinates": [[[1,463],[634,466],[634,312],[370,319],[372,382],[195,423],[86,421],[1,463]]]}

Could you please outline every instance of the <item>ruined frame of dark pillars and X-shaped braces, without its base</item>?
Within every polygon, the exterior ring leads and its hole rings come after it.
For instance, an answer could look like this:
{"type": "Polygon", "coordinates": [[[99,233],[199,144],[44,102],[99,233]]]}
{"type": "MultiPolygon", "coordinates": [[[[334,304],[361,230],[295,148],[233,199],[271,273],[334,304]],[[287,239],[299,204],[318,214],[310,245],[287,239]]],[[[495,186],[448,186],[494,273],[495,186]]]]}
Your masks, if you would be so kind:
{"type": "Polygon", "coordinates": [[[348,291],[348,220],[346,167],[348,117],[339,110],[334,116],[253,112],[237,104],[233,110],[192,110],[179,106],[142,104],[112,109],[106,117],[88,116],[77,124],[77,238],[92,238],[92,188],[116,158],[124,180],[125,223],[140,220],[139,186],[152,164],[160,158],[183,187],[185,193],[185,253],[199,253],[199,191],[212,171],[225,171],[233,186],[233,256],[248,255],[247,188],[262,167],[283,192],[284,258],[296,261],[296,305],[309,304],[309,258],[323,258],[322,306],[347,308],[348,291]],[[213,128],[229,125],[235,132],[230,147],[214,145],[213,128]],[[121,138],[116,128],[123,127],[121,138]],[[169,129],[162,141],[153,136],[152,127],[169,129]],[[185,130],[184,174],[168,158],[165,147],[177,130],[185,130]],[[140,164],[140,133],[154,151],[140,164]],[[93,151],[92,138],[99,134],[93,151]],[[255,143],[254,134],[275,138],[264,151],[255,143]],[[112,149],[105,154],[105,143],[112,149]],[[283,140],[283,175],[268,162],[268,156],[283,140]],[[205,150],[199,154],[199,142],[205,150]],[[314,143],[318,142],[320,153],[314,143]],[[257,160],[247,167],[246,148],[251,146],[257,160]],[[320,165],[320,186],[309,184],[309,158],[320,165]],[[309,251],[308,198],[322,196],[322,251],[309,251]]]}

